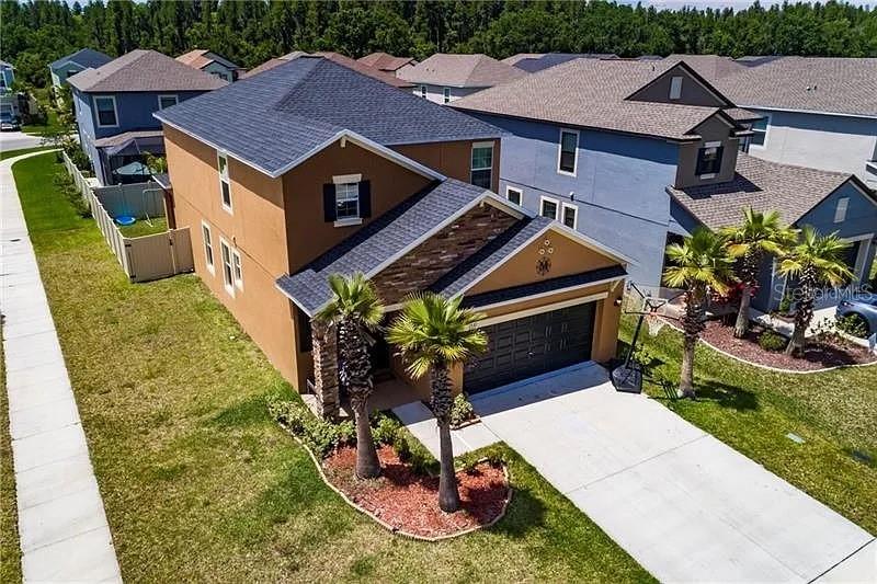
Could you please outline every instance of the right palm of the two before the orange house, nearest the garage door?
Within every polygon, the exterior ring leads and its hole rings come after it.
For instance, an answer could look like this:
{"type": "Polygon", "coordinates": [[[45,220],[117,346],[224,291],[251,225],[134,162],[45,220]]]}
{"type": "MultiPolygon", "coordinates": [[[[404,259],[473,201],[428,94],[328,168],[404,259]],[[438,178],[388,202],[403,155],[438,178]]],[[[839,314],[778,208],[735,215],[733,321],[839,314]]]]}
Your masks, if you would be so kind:
{"type": "Polygon", "coordinates": [[[397,345],[414,379],[432,373],[431,405],[438,424],[441,474],[438,507],[459,508],[454,451],[451,445],[451,366],[487,348],[487,335],[476,328],[483,314],[459,307],[462,298],[446,299],[432,293],[414,296],[390,325],[387,341],[397,345]]]}

